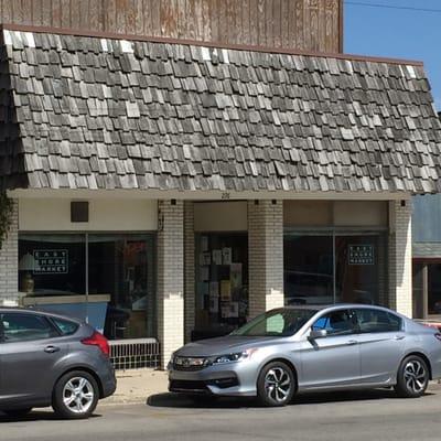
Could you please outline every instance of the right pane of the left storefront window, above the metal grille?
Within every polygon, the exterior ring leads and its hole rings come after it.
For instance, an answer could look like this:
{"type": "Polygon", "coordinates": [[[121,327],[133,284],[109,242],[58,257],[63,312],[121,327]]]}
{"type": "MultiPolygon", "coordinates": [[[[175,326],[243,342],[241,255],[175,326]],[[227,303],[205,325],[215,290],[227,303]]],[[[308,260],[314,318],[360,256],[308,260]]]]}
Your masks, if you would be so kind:
{"type": "Polygon", "coordinates": [[[110,297],[105,335],[155,336],[154,235],[89,235],[88,251],[89,295],[110,297]]]}

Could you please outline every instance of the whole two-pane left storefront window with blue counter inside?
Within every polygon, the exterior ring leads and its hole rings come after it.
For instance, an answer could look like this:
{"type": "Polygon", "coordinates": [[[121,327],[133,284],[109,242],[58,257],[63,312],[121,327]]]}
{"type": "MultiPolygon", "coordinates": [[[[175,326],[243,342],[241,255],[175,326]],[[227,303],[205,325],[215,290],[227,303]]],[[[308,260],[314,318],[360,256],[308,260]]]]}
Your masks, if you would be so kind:
{"type": "Polygon", "coordinates": [[[155,334],[154,235],[21,234],[23,303],[86,320],[109,338],[155,334]]]}

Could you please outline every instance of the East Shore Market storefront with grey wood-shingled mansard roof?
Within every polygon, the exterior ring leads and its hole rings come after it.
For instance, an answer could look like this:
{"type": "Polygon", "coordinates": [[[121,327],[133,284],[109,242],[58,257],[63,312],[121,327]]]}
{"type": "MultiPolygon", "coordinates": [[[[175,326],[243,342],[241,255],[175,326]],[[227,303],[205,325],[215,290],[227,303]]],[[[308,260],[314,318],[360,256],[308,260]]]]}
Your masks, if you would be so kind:
{"type": "Polygon", "coordinates": [[[158,337],[162,365],[283,303],[412,314],[411,196],[441,175],[422,65],[229,43],[4,26],[0,295],[158,337]]]}

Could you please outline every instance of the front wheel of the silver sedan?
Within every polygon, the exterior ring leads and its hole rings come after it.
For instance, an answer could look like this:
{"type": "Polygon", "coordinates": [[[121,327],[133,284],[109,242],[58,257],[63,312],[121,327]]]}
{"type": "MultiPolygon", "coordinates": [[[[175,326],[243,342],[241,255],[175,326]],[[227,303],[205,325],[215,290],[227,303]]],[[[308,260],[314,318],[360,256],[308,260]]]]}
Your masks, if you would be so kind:
{"type": "Polygon", "coordinates": [[[271,362],[260,370],[257,379],[257,397],[263,406],[287,406],[295,389],[295,375],[286,363],[271,362]]]}

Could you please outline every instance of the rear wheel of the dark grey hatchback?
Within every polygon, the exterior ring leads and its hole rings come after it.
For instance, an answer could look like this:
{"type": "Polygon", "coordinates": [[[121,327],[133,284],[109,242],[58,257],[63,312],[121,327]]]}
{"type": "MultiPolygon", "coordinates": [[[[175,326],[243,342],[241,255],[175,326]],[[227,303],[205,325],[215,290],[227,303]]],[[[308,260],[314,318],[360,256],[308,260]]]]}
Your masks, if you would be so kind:
{"type": "Polygon", "coordinates": [[[56,383],[52,407],[61,418],[83,419],[94,412],[99,398],[95,378],[84,370],[72,370],[56,383]]]}

